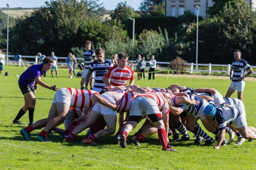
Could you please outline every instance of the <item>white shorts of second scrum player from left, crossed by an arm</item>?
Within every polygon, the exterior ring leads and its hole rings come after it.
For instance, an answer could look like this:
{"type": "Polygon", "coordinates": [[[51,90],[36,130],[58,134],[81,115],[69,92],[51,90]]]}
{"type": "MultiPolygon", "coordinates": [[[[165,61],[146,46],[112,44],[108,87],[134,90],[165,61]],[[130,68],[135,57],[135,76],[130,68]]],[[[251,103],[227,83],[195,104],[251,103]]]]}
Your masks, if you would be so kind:
{"type": "MultiPolygon", "coordinates": [[[[111,104],[116,104],[116,98],[112,94],[103,93],[101,95],[102,98],[106,99],[111,104]]],[[[104,115],[114,115],[116,116],[116,111],[110,109],[110,107],[104,106],[102,104],[96,103],[92,108],[93,111],[98,113],[101,116],[104,115]]]]}

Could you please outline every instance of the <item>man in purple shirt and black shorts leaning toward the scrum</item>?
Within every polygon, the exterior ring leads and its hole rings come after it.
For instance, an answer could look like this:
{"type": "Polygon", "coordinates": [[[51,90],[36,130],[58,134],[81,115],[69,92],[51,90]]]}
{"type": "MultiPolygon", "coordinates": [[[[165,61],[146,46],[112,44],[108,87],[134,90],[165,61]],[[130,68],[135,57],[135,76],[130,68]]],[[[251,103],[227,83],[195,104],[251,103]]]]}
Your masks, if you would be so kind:
{"type": "Polygon", "coordinates": [[[56,88],[56,84],[54,86],[48,86],[41,80],[41,76],[44,72],[48,71],[52,67],[53,60],[50,57],[46,57],[44,59],[43,64],[36,64],[28,67],[26,71],[24,71],[20,75],[19,79],[19,87],[24,95],[25,105],[20,109],[18,115],[15,117],[12,123],[25,125],[20,122],[20,118],[28,111],[29,117],[29,125],[34,123],[34,109],[36,106],[36,97],[34,94],[36,93],[37,85],[41,85],[44,88],[48,88],[50,90],[58,91],[56,88]]]}

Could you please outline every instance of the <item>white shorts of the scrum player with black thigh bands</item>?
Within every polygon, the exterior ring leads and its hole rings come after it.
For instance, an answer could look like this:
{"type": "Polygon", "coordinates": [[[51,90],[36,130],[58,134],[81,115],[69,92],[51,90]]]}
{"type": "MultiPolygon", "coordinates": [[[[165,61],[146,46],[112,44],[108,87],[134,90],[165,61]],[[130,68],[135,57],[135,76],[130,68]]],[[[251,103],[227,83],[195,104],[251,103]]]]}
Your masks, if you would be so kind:
{"type": "Polygon", "coordinates": [[[156,101],[146,96],[139,96],[134,99],[130,109],[130,116],[144,116],[150,120],[147,115],[162,112],[159,110],[156,101]]]}

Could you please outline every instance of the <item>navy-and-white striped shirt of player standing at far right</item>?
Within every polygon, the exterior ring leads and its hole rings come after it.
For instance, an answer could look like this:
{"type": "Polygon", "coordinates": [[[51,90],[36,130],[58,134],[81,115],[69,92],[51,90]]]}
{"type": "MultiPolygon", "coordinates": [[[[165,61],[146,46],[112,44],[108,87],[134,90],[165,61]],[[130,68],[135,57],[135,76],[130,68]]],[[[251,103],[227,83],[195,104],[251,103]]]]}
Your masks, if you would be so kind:
{"type": "MultiPolygon", "coordinates": [[[[247,63],[247,61],[240,59],[239,61],[233,61],[231,68],[234,70],[233,72],[233,82],[238,82],[238,78],[244,76],[245,69],[251,68],[251,66],[247,63]]],[[[244,81],[241,80],[241,81],[244,81]]]]}

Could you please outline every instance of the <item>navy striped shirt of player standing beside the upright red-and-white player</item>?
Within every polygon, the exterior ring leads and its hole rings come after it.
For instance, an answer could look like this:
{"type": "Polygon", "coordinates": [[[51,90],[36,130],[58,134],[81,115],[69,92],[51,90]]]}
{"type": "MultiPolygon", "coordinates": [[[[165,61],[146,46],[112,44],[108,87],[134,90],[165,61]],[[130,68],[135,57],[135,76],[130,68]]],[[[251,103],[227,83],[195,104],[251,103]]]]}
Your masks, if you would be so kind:
{"type": "Polygon", "coordinates": [[[106,84],[102,81],[102,78],[108,71],[108,68],[112,66],[114,66],[113,63],[108,60],[104,60],[103,63],[98,63],[98,60],[96,60],[90,64],[89,70],[95,73],[94,87],[103,88],[106,86],[106,84]]]}

